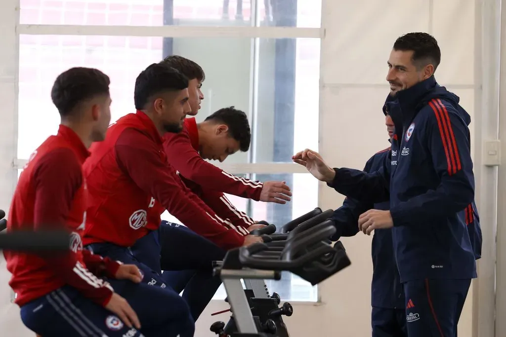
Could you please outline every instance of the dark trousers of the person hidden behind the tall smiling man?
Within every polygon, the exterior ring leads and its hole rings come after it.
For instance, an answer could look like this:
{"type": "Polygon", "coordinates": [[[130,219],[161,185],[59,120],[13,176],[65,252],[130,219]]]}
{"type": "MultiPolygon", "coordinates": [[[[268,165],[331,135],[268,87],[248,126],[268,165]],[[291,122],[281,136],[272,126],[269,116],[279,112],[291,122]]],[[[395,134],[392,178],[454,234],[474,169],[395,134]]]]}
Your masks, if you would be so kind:
{"type": "Polygon", "coordinates": [[[372,307],[372,337],[407,337],[406,310],[372,307]]]}

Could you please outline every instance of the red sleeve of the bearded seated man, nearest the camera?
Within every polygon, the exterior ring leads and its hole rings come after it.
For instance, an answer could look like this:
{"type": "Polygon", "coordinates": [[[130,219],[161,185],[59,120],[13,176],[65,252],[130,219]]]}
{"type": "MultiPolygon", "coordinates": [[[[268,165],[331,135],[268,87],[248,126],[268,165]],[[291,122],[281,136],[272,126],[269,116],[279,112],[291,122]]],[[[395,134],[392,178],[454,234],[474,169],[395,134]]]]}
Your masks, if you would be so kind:
{"type": "Polygon", "coordinates": [[[231,230],[216,213],[183,184],[160,149],[147,135],[126,129],[115,145],[116,159],[132,180],[151,194],[169,213],[188,228],[224,249],[237,248],[244,237],[231,230]]]}

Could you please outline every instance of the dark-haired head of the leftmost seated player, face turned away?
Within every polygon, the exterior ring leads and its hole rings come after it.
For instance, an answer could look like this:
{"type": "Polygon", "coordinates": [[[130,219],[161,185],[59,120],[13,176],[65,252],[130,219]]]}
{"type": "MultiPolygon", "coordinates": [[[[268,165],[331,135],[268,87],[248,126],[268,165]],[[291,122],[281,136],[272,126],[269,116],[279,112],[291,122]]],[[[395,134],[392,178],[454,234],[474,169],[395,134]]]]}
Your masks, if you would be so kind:
{"type": "Polygon", "coordinates": [[[111,121],[109,84],[100,70],[75,67],[61,73],[51,89],[62,122],[87,130],[91,142],[105,139],[111,121]]]}

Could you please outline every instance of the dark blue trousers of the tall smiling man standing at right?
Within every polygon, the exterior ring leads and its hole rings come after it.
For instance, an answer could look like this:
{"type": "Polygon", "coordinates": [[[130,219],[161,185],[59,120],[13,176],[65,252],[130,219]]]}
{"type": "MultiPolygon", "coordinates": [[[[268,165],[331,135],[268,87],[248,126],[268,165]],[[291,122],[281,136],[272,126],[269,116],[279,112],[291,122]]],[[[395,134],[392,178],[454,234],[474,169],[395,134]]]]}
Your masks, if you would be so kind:
{"type": "Polygon", "coordinates": [[[404,283],[409,337],[456,337],[471,279],[425,279],[404,283]]]}

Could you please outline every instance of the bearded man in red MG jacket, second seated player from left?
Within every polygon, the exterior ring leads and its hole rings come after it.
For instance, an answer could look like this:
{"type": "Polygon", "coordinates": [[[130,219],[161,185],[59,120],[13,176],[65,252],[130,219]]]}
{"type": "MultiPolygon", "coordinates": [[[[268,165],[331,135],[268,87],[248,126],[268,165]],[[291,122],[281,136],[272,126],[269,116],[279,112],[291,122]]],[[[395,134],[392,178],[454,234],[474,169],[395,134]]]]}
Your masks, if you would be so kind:
{"type": "Polygon", "coordinates": [[[177,70],[150,65],[136,80],[137,113],[111,125],[83,166],[90,191],[83,243],[97,254],[138,265],[150,275],[145,282],[161,287],[166,284],[160,275],[135,259],[129,247],[160,225],[162,209],[222,249],[262,241],[230,227],[166,162],[161,136],[182,130],[190,110],[187,88],[188,79],[177,70]]]}

